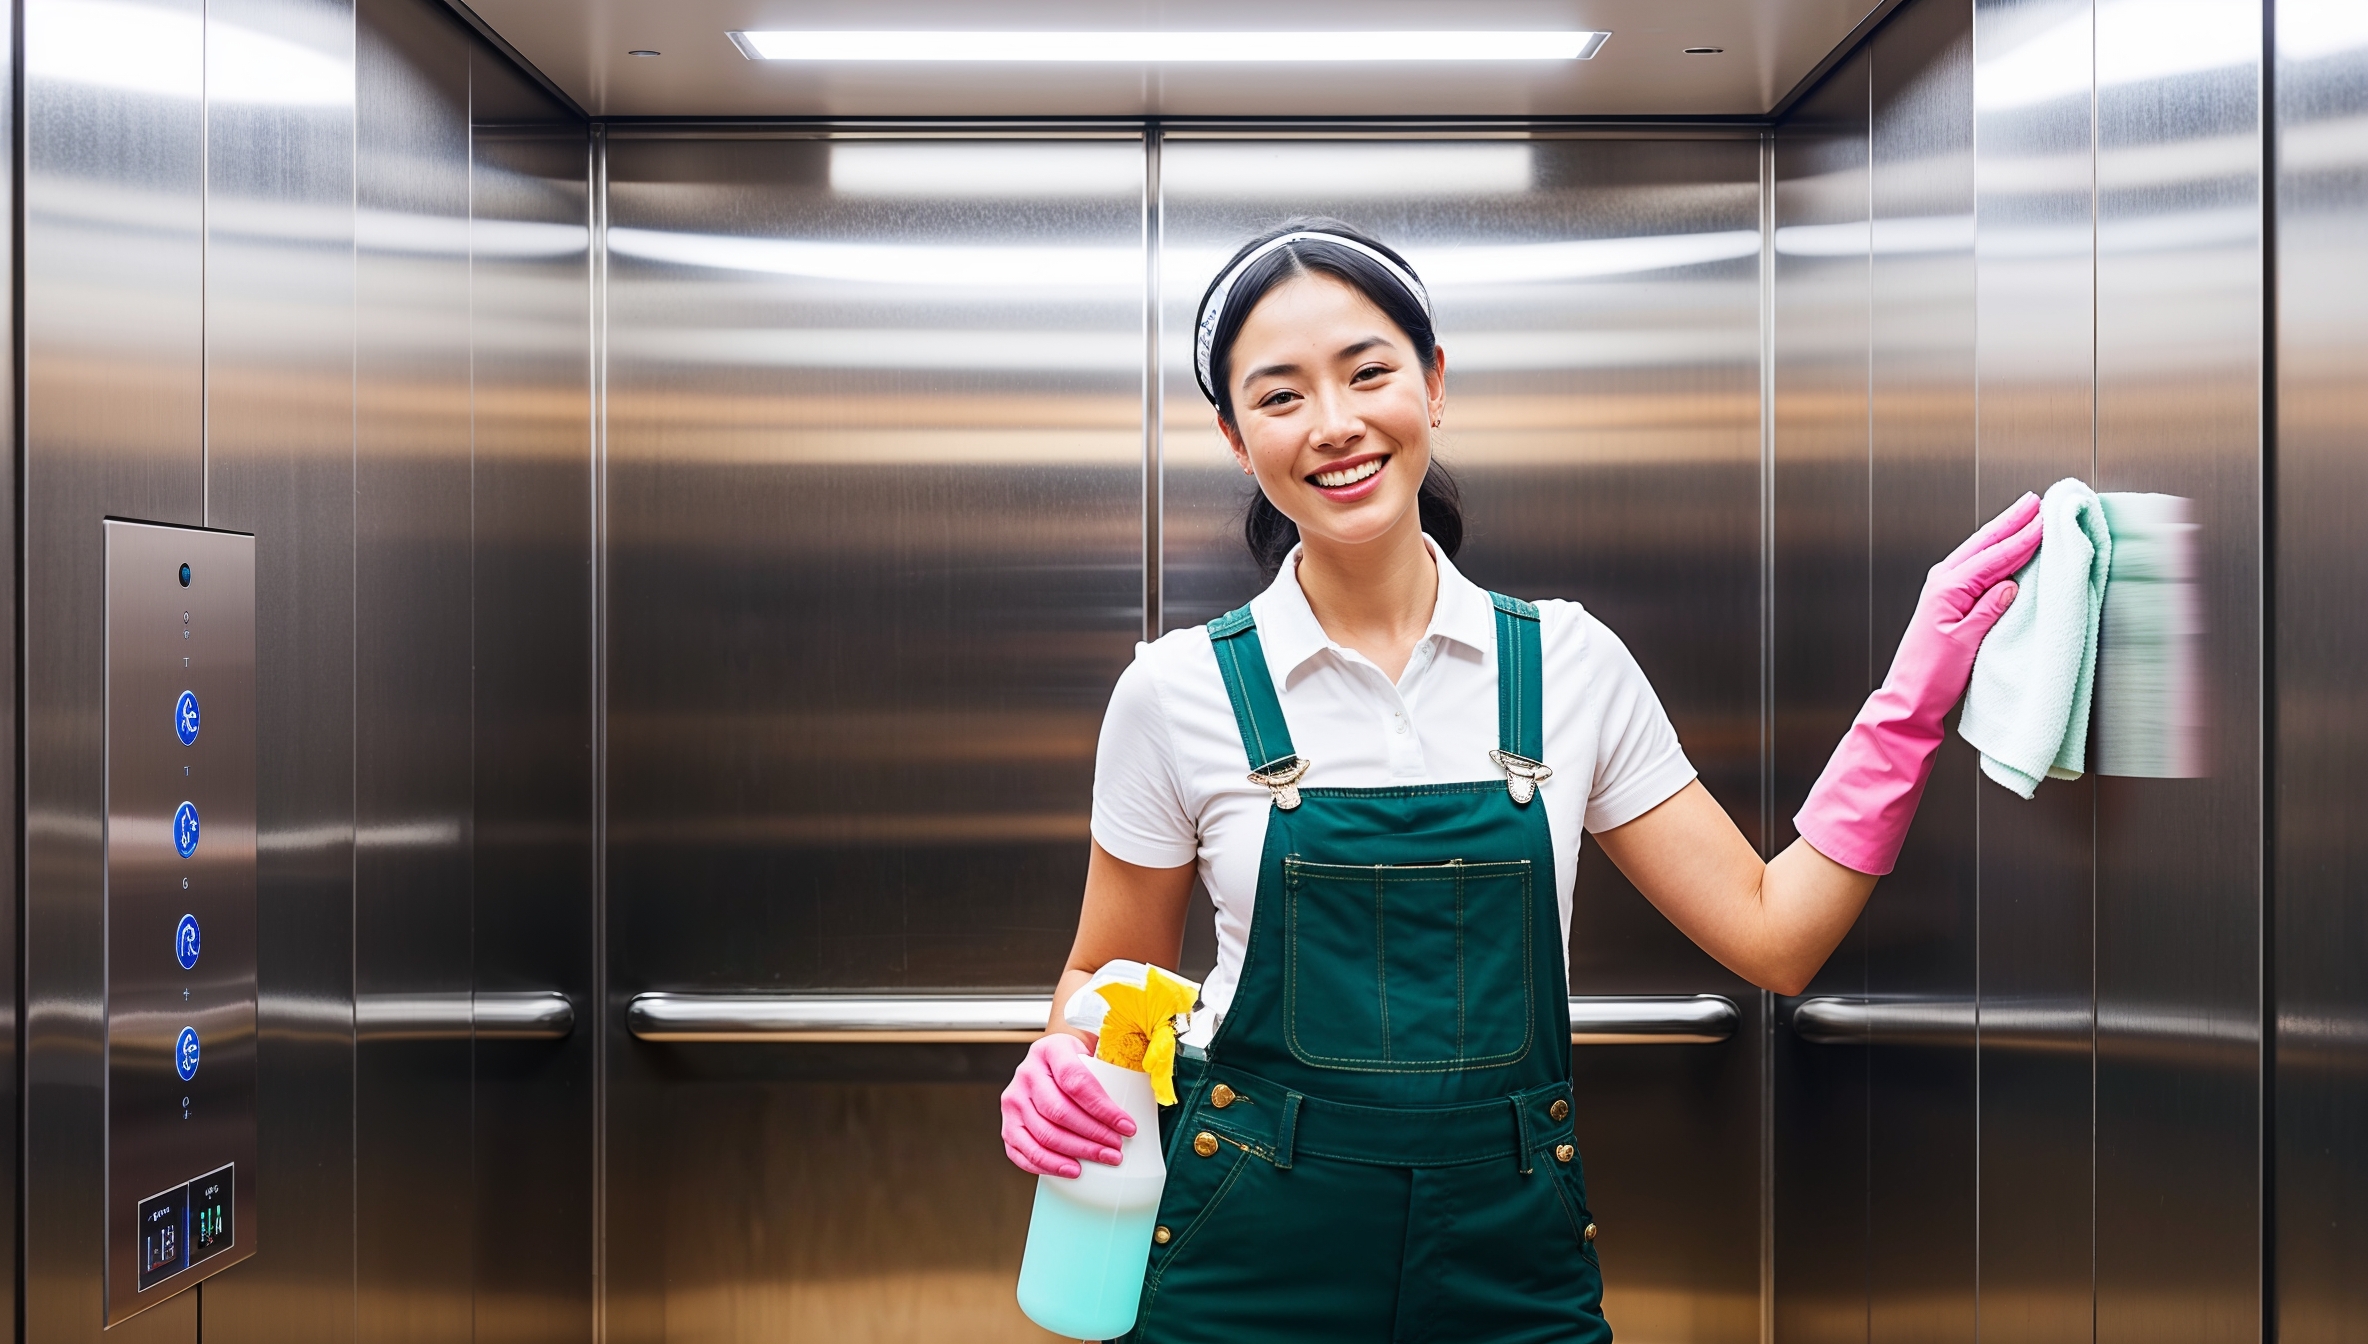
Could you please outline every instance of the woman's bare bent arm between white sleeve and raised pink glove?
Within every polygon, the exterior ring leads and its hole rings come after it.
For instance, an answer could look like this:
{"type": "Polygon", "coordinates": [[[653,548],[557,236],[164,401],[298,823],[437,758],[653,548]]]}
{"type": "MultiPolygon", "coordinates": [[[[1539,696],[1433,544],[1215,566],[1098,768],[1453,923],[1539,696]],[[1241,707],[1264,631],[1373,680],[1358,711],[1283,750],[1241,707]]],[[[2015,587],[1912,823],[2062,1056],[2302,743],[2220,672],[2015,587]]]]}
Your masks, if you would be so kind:
{"type": "Polygon", "coordinates": [[[1776,994],[1809,984],[1875,890],[1807,840],[1762,864],[1703,781],[1596,842],[1719,965],[1776,994]]]}

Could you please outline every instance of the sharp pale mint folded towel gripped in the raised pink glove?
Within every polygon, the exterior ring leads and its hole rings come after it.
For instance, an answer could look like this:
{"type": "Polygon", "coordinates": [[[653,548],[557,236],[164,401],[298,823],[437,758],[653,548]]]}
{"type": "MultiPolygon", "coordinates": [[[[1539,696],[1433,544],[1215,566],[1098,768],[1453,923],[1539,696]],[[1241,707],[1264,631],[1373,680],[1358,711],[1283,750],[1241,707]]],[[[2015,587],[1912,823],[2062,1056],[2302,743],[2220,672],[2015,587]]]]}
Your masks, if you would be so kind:
{"type": "Polygon", "coordinates": [[[2079,778],[2089,757],[2096,634],[2112,532],[2096,490],[2065,478],[2039,499],[2046,537],[2015,573],[2015,603],[1973,658],[1956,731],[1982,774],[2029,797],[2041,778],[2079,778]]]}

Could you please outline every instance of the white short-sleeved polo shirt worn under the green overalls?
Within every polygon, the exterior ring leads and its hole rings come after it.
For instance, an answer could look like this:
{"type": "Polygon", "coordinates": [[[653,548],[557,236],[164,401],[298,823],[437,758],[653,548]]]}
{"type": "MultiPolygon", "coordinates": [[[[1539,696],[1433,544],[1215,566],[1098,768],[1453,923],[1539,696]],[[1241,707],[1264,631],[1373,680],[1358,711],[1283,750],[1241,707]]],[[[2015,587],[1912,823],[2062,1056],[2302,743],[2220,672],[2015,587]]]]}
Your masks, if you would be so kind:
{"type": "MultiPolygon", "coordinates": [[[[1426,537],[1428,542],[1428,537],[1426,537]]],[[[1497,615],[1478,584],[1430,547],[1440,599],[1397,684],[1333,644],[1300,592],[1293,549],[1274,587],[1250,599],[1267,672],[1312,764],[1307,788],[1385,788],[1504,778],[1497,745],[1497,615]]],[[[1539,788],[1553,835],[1553,887],[1570,944],[1579,831],[1634,821],[1693,781],[1693,764],[1627,646],[1575,601],[1542,601],[1546,764],[1539,788]]],[[[1250,783],[1234,705],[1208,629],[1175,629],[1134,646],[1111,691],[1094,760],[1094,840],[1146,868],[1201,864],[1217,906],[1217,970],[1201,989],[1208,1041],[1231,1006],[1257,902],[1272,793],[1250,783]]]]}

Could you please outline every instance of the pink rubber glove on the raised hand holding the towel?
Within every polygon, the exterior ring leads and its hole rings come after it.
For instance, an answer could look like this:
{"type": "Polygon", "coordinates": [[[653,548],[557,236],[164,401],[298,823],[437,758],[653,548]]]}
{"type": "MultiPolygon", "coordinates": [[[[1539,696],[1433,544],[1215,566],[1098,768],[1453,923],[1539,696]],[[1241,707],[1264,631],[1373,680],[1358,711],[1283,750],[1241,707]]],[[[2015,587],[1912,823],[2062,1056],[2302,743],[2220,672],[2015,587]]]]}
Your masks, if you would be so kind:
{"type": "Polygon", "coordinates": [[[1793,819],[1819,854],[1873,875],[1899,861],[1932,776],[1942,717],[1965,693],[1982,637],[2015,601],[2008,575],[2036,551],[2039,497],[2025,492],[1925,575],[1890,677],[1866,698],[1793,819]]]}

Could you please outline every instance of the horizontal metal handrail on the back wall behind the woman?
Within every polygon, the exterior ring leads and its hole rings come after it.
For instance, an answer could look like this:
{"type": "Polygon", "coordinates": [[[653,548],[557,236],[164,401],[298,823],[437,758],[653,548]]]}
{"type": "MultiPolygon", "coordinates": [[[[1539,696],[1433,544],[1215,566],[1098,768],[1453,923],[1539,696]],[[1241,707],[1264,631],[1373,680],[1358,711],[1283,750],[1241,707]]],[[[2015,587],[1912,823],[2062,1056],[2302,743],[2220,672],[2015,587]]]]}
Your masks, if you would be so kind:
{"type": "MultiPolygon", "coordinates": [[[[1032,1041],[1049,994],[639,994],[628,1029],[661,1043],[1032,1041]]],[[[1572,1046],[1714,1046],[1743,1013],[1722,994],[1579,996],[1572,1046]]]]}

